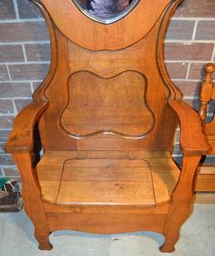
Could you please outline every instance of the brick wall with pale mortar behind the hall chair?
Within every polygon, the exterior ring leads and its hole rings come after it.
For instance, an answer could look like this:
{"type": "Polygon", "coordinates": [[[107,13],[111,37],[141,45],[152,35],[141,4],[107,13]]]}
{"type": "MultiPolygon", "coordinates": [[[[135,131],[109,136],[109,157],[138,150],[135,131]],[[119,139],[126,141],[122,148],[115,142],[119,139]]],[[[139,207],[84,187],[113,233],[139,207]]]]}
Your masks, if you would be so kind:
{"type": "MultiPolygon", "coordinates": [[[[214,12],[215,0],[186,0],[171,20],[165,41],[170,77],[195,108],[202,66],[215,61],[214,12]]],[[[49,36],[37,8],[28,0],[0,0],[0,176],[20,181],[3,147],[14,117],[31,100],[49,64],[49,36]]],[[[174,157],[181,161],[177,138],[174,157]]],[[[206,162],[214,163],[214,157],[206,162]]]]}

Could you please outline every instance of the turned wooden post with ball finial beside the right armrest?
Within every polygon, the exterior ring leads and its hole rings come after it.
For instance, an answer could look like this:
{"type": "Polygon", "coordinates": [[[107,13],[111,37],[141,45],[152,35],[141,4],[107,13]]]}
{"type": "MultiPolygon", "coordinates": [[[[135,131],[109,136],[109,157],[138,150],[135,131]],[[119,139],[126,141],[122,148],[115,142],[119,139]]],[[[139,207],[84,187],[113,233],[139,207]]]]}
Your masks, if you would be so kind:
{"type": "Polygon", "coordinates": [[[209,103],[212,95],[212,73],[215,71],[215,65],[207,63],[204,66],[205,77],[203,77],[200,97],[199,97],[199,115],[202,121],[207,118],[207,104],[209,103]]]}

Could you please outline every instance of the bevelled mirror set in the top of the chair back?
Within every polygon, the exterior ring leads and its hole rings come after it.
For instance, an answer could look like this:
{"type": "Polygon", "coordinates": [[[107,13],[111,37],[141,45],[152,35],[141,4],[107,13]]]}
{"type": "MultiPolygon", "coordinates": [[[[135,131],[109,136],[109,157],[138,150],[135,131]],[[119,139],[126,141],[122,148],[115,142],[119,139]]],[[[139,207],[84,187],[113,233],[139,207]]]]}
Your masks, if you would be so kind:
{"type": "Polygon", "coordinates": [[[71,0],[90,19],[110,24],[122,19],[139,3],[139,0],[71,0]]]}

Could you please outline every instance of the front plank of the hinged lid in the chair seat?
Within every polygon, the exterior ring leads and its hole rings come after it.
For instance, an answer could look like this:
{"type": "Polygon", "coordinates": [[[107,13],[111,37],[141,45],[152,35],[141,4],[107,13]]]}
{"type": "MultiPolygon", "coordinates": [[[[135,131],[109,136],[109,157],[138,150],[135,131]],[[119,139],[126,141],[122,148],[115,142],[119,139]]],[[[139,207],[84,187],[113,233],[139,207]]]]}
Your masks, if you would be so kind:
{"type": "Polygon", "coordinates": [[[61,182],[58,204],[155,205],[152,182],[61,182]]]}

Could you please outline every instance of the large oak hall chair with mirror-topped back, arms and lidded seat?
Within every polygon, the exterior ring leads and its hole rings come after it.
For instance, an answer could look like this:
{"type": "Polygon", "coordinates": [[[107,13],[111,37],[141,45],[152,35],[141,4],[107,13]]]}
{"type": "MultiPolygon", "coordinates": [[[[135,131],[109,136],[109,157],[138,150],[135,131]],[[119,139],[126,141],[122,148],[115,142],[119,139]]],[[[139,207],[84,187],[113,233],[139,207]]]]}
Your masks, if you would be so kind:
{"type": "Polygon", "coordinates": [[[159,232],[161,252],[174,251],[208,150],[199,115],[164,64],[166,28],[181,0],[134,0],[108,19],[71,0],[32,2],[49,29],[50,71],[6,148],[39,248],[50,250],[50,233],[69,229],[159,232]],[[181,168],[170,156],[178,124],[181,168]],[[35,125],[45,152],[38,162],[35,125]]]}

